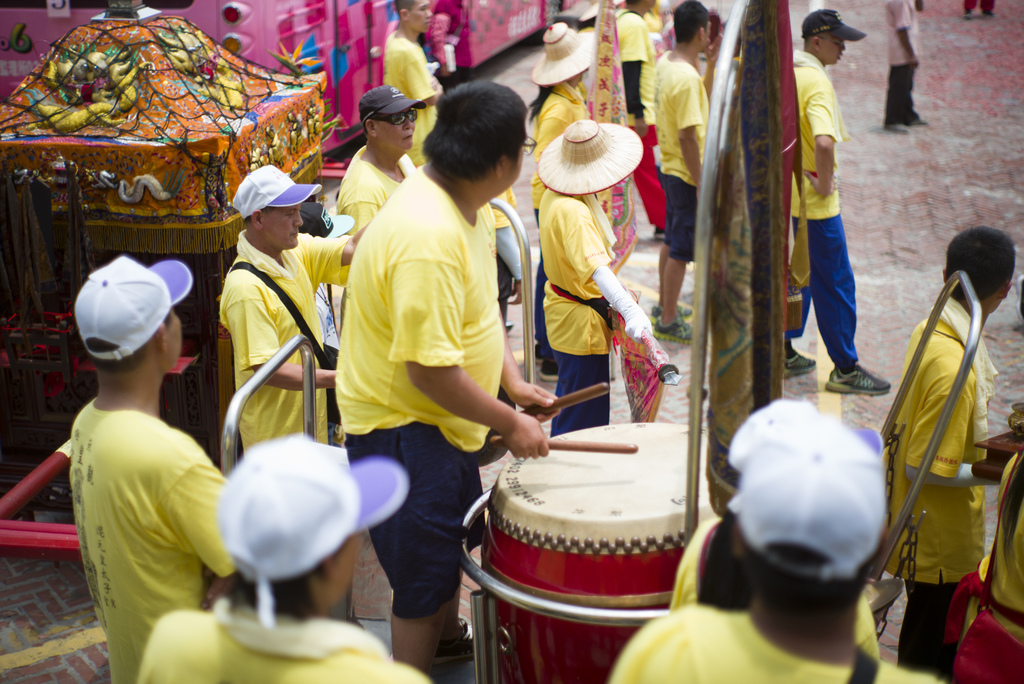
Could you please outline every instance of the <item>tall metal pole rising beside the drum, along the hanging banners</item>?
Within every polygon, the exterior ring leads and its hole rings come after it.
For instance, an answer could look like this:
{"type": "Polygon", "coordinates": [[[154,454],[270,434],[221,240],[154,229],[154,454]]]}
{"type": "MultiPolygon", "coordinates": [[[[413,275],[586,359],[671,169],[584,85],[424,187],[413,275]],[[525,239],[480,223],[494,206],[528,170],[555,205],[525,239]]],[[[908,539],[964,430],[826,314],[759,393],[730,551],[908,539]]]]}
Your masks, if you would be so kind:
{"type": "Polygon", "coordinates": [[[700,496],[700,424],[703,414],[705,365],[708,349],[708,293],[711,287],[711,232],[718,189],[719,162],[729,142],[729,103],[736,82],[736,41],[742,17],[750,0],[738,0],[729,11],[719,54],[725,55],[725,67],[715,73],[712,86],[708,135],[705,138],[703,168],[700,169],[700,194],[697,200],[697,221],[693,268],[693,343],[690,353],[690,428],[686,466],[686,542],[697,528],[697,498],[700,496]]]}

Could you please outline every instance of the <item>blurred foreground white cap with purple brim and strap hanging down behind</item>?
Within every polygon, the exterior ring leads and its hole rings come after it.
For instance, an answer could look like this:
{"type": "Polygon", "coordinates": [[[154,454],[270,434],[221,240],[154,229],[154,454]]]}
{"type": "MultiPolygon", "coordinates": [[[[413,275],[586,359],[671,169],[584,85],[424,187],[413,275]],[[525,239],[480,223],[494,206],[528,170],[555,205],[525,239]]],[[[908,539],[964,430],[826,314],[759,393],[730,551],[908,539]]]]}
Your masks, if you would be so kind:
{"type": "Polygon", "coordinates": [[[246,451],[220,495],[224,548],[256,584],[256,610],[274,625],[272,582],[309,572],[355,532],[391,517],[409,494],[409,475],[384,457],[344,464],[345,451],[304,435],[246,451]]]}

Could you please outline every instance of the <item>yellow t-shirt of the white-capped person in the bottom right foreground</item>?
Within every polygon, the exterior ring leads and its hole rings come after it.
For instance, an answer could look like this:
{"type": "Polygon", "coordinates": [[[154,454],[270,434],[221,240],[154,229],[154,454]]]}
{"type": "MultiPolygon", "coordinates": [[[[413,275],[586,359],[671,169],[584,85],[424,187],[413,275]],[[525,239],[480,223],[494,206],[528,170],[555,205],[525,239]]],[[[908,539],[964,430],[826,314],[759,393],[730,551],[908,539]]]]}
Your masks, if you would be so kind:
{"type": "MultiPolygon", "coordinates": [[[[745,612],[688,606],[648,623],[626,645],[608,684],[847,684],[852,667],[809,660],[764,638],[745,612]]],[[[877,684],[939,680],[879,662],[877,684]]]]}

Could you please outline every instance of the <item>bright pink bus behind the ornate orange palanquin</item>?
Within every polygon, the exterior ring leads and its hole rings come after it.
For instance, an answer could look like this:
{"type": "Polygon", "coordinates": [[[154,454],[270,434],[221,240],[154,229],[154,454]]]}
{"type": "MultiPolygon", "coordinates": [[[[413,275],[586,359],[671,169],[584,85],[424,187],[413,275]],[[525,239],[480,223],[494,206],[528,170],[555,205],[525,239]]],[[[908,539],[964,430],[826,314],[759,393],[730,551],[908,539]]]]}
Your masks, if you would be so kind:
{"type": "MultiPolygon", "coordinates": [[[[482,63],[543,29],[577,0],[466,0],[472,66],[482,63]]],[[[106,0],[0,0],[0,97],[46,54],[50,43],[106,9],[106,0]]],[[[321,60],[325,99],[343,124],[325,151],[359,132],[359,96],[381,84],[384,41],[395,29],[393,0],[147,0],[165,14],[183,16],[224,47],[278,67],[269,52],[283,46],[321,60]]]]}

